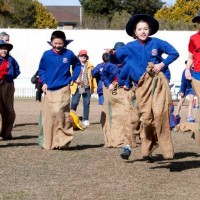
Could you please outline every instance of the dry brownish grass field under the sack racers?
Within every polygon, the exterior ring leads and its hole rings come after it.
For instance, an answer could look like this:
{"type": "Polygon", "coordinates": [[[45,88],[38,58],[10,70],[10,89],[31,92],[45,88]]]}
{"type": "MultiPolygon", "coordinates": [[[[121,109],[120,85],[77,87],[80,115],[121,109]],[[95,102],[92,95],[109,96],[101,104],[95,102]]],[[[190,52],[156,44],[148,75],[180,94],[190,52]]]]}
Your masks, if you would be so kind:
{"type": "MultiPolygon", "coordinates": [[[[103,147],[101,108],[94,100],[91,126],[76,131],[70,149],[46,151],[37,145],[40,104],[17,99],[15,109],[14,139],[0,142],[0,199],[199,199],[200,147],[191,133],[172,133],[174,160],[163,160],[158,148],[154,162],[147,163],[138,147],[124,161],[121,149],[103,147]]],[[[181,112],[184,115],[186,107],[181,112]]]]}

